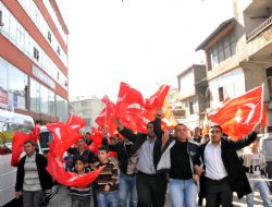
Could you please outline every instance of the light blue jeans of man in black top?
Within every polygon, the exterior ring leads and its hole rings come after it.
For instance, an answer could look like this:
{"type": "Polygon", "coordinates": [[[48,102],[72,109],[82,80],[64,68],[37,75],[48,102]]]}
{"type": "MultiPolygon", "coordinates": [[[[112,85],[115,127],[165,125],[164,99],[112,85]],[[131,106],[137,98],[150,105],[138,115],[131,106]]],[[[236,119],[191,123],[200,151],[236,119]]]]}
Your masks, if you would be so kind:
{"type": "Polygon", "coordinates": [[[170,179],[170,196],[172,207],[196,207],[197,184],[193,179],[170,179]]]}

